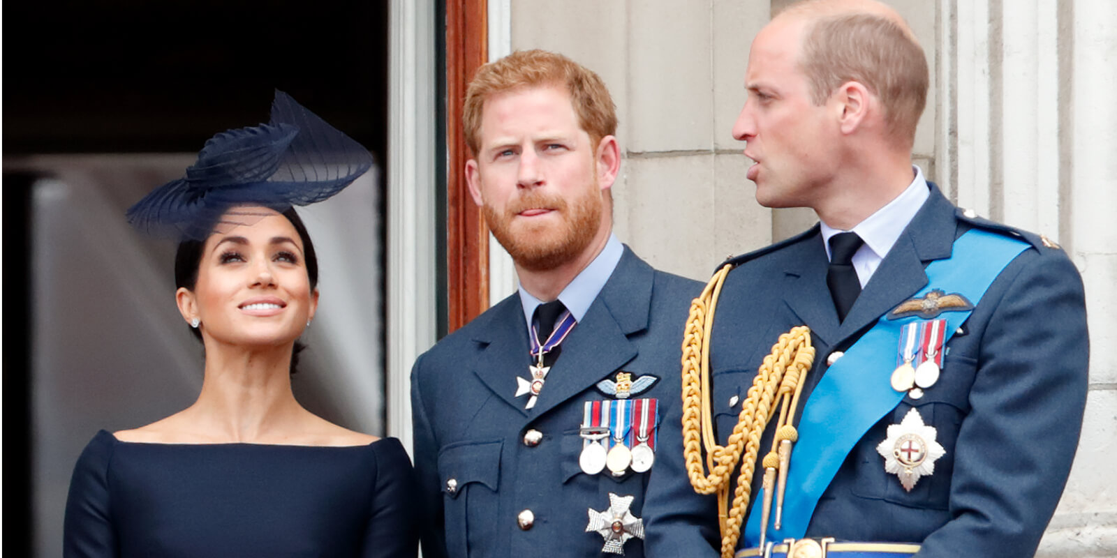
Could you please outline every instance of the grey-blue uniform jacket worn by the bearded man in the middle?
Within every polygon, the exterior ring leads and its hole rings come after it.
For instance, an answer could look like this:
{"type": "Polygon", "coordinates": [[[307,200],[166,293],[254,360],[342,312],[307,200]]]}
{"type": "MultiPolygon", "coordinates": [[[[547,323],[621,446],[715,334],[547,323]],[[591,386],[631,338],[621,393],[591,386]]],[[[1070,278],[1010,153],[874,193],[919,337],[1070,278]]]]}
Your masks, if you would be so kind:
{"type": "MultiPolygon", "coordinates": [[[[515,396],[516,377],[532,364],[516,295],[420,356],[411,401],[423,556],[602,556],[604,537],[586,532],[590,509],[608,509],[610,493],[632,496],[630,511],[642,518],[649,473],[580,470],[583,403],[611,400],[595,385],[623,371],[660,378],[633,398],[658,398],[660,416],[677,406],[682,328],[700,290],[626,247],[531,410],[515,396]],[[542,433],[536,445],[525,441],[529,430],[542,433]],[[518,521],[524,510],[533,518],[527,529],[518,521]]],[[[623,548],[627,557],[645,556],[640,539],[623,548]]]]}

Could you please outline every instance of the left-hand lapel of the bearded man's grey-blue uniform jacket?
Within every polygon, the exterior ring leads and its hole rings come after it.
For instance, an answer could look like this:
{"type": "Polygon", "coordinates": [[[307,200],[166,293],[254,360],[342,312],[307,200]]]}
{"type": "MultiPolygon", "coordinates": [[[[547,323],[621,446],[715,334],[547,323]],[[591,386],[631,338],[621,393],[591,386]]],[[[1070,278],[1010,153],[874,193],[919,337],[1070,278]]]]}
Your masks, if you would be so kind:
{"type": "MultiPolygon", "coordinates": [[[[477,328],[474,341],[481,345],[474,363],[474,374],[502,400],[527,416],[527,395],[516,397],[516,377],[527,378],[531,356],[527,326],[519,297],[513,295],[493,308],[483,319],[488,324],[477,328]]],[[[547,386],[550,386],[550,376],[547,386]]]]}

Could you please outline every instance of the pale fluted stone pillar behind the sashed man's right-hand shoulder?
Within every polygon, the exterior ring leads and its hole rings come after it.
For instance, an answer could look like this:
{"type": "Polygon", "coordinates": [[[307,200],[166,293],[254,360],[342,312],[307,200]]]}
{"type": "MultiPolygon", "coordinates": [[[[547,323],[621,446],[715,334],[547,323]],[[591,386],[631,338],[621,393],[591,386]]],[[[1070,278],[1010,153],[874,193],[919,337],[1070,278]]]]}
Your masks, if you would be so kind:
{"type": "Polygon", "coordinates": [[[960,205],[1061,243],[1086,282],[1086,420],[1037,556],[1115,556],[1117,3],[941,0],[938,20],[941,181],[960,205]]]}

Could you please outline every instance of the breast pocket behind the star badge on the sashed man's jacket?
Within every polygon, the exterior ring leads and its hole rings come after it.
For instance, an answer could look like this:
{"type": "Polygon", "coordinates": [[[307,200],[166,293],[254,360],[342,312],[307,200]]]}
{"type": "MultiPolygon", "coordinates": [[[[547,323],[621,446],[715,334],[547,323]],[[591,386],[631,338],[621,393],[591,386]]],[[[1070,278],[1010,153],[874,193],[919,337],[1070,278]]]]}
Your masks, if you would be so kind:
{"type": "Polygon", "coordinates": [[[977,362],[973,358],[947,356],[938,381],[924,389],[920,398],[905,397],[869,431],[855,450],[860,452],[860,466],[857,482],[852,485],[853,493],[913,508],[948,509],[954,452],[962,422],[970,414],[970,388],[976,367],[977,362]],[[935,460],[934,472],[920,477],[916,485],[907,491],[895,474],[885,472],[885,459],[877,452],[876,445],[888,437],[888,426],[900,424],[913,408],[919,413],[924,424],[935,429],[935,442],[943,446],[945,453],[935,460]]]}

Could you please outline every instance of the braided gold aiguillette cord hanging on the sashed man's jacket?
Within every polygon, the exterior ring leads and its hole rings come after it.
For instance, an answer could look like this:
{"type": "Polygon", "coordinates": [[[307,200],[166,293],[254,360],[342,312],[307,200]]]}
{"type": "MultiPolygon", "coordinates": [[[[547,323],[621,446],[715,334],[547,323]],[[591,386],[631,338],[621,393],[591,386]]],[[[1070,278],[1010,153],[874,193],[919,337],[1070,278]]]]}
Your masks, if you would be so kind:
{"type": "Polygon", "coordinates": [[[709,401],[712,392],[709,339],[714,328],[717,297],[732,268],[732,264],[725,264],[714,273],[701,295],[690,304],[690,316],[687,318],[682,336],[682,455],[695,492],[699,494],[717,492],[723,558],[733,558],[737,539],[741,538],[741,523],[748,509],[757,449],[776,397],[780,398],[779,429],[773,441],[773,451],[764,458],[763,463],[765,468],[763,525],[766,528],[771,494],[775,489],[772,484],[777,474],[780,493],[776,500],[776,521],[782,519],[787,462],[791,459],[791,445],[796,439],[792,419],[802,392],[801,379],[806,376],[814,362],[811,330],[806,326],[794,327],[781,335],[780,340],[772,347],[772,354],[764,357],[764,364],[761,365],[752,387],[748,388],[748,395],[741,407],[733,433],[724,446],[717,444],[714,434],[713,404],[709,401]],[[704,449],[709,474],[703,469],[704,449]],[[737,477],[733,507],[729,508],[729,475],[738,462],[742,463],[741,473],[737,477]]]}

